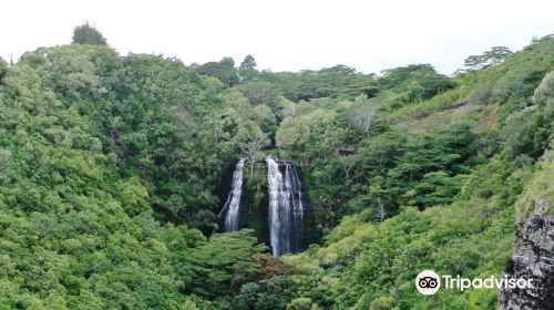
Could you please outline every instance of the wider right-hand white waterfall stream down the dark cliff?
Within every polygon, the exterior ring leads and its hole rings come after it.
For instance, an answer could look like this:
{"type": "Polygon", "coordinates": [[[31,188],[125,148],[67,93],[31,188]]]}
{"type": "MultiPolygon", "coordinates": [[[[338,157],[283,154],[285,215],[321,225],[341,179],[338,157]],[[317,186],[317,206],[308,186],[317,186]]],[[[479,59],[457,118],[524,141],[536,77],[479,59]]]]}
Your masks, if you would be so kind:
{"type": "Polygon", "coordinates": [[[269,234],[273,254],[297,254],[302,249],[302,193],[296,169],[286,163],[285,175],[279,159],[268,156],[269,234]]]}

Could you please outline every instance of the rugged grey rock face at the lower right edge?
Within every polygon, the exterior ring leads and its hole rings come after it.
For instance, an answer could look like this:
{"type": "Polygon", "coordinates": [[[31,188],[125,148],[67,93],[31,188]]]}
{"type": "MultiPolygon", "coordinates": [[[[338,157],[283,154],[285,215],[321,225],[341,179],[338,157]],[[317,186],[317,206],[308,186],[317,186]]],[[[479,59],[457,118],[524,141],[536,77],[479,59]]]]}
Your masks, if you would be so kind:
{"type": "Polygon", "coordinates": [[[523,229],[515,234],[510,276],[533,279],[533,288],[502,289],[497,310],[554,309],[554,216],[545,215],[550,205],[537,200],[523,229]]]}

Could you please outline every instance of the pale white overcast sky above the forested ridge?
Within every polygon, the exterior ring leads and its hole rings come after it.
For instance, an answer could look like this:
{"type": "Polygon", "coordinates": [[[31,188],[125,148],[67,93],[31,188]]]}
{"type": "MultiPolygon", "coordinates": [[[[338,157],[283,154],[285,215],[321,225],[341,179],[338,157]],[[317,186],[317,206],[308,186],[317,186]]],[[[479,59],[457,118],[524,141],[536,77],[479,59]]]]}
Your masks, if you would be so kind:
{"type": "Polygon", "coordinates": [[[71,42],[89,21],[122,55],[185,63],[253,54],[259,69],[347,64],[370,73],[431,63],[442,73],[493,45],[516,51],[554,33],[554,1],[31,1],[0,4],[0,55],[71,42]]]}

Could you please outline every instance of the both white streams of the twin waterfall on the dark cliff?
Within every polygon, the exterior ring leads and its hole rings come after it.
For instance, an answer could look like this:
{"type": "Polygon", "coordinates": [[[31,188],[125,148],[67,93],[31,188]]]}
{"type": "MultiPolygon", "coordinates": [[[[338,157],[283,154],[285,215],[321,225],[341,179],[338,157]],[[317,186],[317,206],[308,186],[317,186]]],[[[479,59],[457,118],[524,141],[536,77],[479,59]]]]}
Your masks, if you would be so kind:
{"type": "MultiPolygon", "coordinates": [[[[269,241],[273,254],[275,256],[297,254],[302,250],[304,206],[300,179],[293,165],[273,156],[266,157],[265,162],[269,194],[269,241]]],[[[227,210],[225,231],[239,229],[244,163],[245,159],[240,159],[233,173],[233,184],[224,206],[224,210],[227,210]]]]}

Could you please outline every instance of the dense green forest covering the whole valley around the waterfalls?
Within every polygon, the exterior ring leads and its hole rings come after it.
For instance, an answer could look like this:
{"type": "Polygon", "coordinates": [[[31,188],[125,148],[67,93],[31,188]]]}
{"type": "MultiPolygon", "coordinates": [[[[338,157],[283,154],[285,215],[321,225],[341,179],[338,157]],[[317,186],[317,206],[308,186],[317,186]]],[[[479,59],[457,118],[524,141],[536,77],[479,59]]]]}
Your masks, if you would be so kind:
{"type": "Polygon", "coordinates": [[[89,24],[0,59],[0,309],[495,309],[413,279],[512,272],[536,202],[554,216],[553,70],[552,35],[448,76],[123,56],[89,24]],[[301,180],[301,254],[270,251],[269,155],[301,180]]]}

